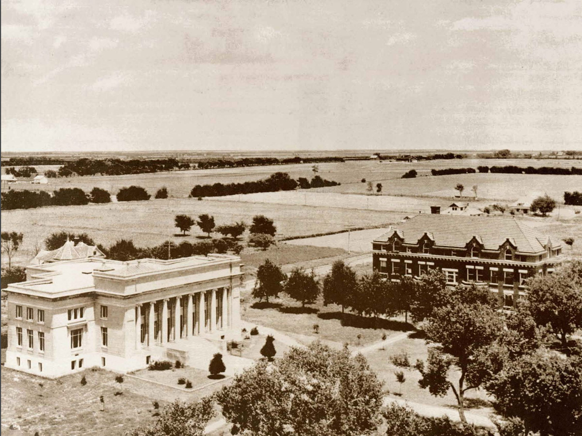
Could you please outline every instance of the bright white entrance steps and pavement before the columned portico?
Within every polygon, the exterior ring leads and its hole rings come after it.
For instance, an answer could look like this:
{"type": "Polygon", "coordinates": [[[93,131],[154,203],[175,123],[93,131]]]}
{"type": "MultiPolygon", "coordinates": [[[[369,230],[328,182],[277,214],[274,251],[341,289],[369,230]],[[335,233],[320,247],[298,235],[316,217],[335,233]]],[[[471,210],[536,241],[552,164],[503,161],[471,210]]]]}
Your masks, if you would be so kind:
{"type": "Polygon", "coordinates": [[[253,359],[232,356],[226,351],[224,339],[205,338],[203,336],[191,336],[178,339],[166,344],[166,358],[180,362],[196,369],[208,371],[208,365],[215,353],[222,354],[222,362],[226,366],[224,374],[234,376],[254,363],[253,359]]]}

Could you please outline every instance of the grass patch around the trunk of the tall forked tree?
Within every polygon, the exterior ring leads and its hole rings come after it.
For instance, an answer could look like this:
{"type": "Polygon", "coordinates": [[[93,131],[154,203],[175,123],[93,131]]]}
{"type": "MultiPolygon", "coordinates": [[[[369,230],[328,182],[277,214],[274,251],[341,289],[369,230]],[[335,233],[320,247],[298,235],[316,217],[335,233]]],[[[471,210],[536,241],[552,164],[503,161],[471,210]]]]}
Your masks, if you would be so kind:
{"type": "MultiPolygon", "coordinates": [[[[414,336],[414,335],[413,335],[414,336]]],[[[365,357],[370,363],[372,370],[378,374],[381,381],[384,382],[384,390],[389,391],[390,396],[399,396],[400,385],[396,381],[395,371],[402,370],[406,381],[402,384],[402,396],[405,400],[417,403],[424,403],[433,406],[442,406],[446,408],[457,408],[457,401],[452,390],[449,389],[447,394],[442,397],[432,396],[428,389],[422,389],[418,386],[420,380],[420,373],[415,369],[402,369],[394,366],[390,362],[390,356],[400,352],[407,352],[411,365],[416,363],[417,359],[426,360],[428,356],[428,347],[424,339],[407,338],[402,341],[386,346],[385,350],[379,349],[377,351],[368,353],[365,357]]],[[[449,371],[449,380],[458,380],[458,371],[449,371]]],[[[471,389],[466,393],[466,406],[474,413],[489,414],[492,412],[491,403],[492,397],[487,395],[482,389],[471,389]]]]}

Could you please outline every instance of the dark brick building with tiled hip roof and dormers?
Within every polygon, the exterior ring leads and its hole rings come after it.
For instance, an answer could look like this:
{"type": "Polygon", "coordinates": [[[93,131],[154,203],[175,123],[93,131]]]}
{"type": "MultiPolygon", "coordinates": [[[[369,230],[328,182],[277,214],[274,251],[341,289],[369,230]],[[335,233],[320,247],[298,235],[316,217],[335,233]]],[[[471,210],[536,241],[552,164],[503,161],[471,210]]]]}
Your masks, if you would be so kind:
{"type": "Polygon", "coordinates": [[[372,242],[374,270],[389,280],[442,270],[447,284],[487,285],[514,306],[525,281],[551,274],[562,246],[513,217],[417,215],[372,242]]]}

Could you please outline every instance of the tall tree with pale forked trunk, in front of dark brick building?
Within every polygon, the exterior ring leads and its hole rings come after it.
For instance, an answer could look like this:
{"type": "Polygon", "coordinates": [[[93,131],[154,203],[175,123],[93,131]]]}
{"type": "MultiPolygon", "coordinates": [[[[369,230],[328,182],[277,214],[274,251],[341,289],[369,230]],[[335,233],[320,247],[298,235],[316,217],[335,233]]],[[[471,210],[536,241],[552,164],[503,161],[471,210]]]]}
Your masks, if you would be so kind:
{"type": "Polygon", "coordinates": [[[417,362],[416,368],[423,376],[418,384],[435,396],[443,396],[451,388],[459,405],[459,417],[465,424],[465,393],[479,388],[490,374],[499,370],[493,345],[502,329],[496,310],[480,303],[435,309],[424,329],[427,341],[437,345],[429,350],[427,367],[421,360],[417,362]],[[458,374],[454,382],[448,379],[452,365],[458,369],[453,373],[458,374]]]}

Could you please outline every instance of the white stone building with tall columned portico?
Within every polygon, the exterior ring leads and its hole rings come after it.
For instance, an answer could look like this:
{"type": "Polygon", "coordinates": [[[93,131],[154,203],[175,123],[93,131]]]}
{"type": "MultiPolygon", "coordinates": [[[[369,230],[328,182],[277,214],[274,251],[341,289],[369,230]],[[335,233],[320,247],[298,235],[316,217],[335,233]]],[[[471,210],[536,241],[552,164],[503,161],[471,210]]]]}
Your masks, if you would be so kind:
{"type": "Polygon", "coordinates": [[[6,367],[43,377],[161,359],[208,368],[240,337],[239,257],[119,262],[86,247],[39,253],[27,280],[6,288],[6,367]]]}

